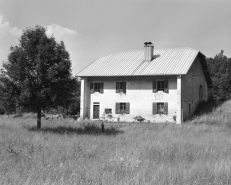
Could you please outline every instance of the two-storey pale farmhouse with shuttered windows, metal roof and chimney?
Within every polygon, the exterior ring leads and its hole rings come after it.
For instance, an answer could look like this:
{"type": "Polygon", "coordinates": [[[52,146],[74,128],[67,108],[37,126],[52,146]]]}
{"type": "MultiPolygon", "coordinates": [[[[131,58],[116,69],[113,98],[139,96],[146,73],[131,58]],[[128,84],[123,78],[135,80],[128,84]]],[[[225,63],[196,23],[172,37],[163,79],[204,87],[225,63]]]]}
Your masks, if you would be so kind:
{"type": "Polygon", "coordinates": [[[212,87],[205,56],[191,48],[118,52],[100,57],[81,77],[82,119],[181,122],[212,87]]]}

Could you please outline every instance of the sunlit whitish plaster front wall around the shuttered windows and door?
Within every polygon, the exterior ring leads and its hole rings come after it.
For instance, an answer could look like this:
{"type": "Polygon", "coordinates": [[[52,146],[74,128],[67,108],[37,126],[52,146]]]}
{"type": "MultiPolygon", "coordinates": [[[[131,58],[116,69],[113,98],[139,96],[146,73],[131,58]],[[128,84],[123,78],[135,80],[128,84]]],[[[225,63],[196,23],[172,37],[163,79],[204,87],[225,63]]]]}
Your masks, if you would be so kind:
{"type": "Polygon", "coordinates": [[[112,109],[112,116],[120,121],[134,121],[135,116],[142,116],[150,122],[173,122],[177,112],[177,76],[146,76],[146,77],[91,77],[87,80],[87,94],[85,98],[88,107],[85,115],[93,119],[93,105],[99,103],[100,117],[104,117],[105,108],[112,109]],[[154,80],[168,80],[168,93],[152,91],[154,80]],[[116,93],[116,82],[126,81],[126,94],[116,93]],[[104,82],[104,93],[90,94],[91,82],[104,82]],[[116,114],[115,106],[119,102],[130,103],[130,114],[116,114]],[[153,115],[153,102],[168,102],[168,115],[153,115]]]}

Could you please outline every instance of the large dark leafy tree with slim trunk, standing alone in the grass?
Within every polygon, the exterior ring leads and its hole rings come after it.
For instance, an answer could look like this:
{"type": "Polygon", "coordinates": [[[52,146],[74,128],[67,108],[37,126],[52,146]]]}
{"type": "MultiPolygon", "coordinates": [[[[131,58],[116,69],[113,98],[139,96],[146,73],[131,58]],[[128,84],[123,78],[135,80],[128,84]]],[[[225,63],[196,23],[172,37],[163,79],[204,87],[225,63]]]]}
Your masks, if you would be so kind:
{"type": "Polygon", "coordinates": [[[41,110],[67,105],[73,98],[75,83],[64,43],[48,37],[42,26],[27,28],[19,45],[11,46],[0,80],[5,98],[13,98],[17,106],[37,112],[38,128],[41,110]]]}

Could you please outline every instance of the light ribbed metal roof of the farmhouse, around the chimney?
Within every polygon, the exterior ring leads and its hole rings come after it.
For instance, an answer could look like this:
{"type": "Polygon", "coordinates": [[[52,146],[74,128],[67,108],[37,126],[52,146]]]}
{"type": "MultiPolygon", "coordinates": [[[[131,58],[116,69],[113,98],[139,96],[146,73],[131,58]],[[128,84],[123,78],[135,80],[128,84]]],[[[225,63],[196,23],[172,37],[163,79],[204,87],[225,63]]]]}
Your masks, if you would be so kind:
{"type": "Polygon", "coordinates": [[[186,74],[199,51],[191,48],[155,49],[152,61],[144,51],[118,52],[100,57],[76,76],[141,76],[186,74]]]}

